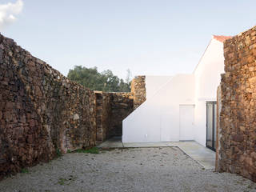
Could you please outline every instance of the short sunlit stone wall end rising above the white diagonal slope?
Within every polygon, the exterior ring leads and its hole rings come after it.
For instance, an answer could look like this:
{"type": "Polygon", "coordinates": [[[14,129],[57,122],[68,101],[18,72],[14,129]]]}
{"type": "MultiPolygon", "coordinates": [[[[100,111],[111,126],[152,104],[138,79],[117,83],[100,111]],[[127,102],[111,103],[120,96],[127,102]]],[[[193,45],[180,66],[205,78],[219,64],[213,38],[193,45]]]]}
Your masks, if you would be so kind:
{"type": "Polygon", "coordinates": [[[134,109],[146,101],[146,76],[137,76],[131,82],[130,92],[134,94],[134,109]]]}

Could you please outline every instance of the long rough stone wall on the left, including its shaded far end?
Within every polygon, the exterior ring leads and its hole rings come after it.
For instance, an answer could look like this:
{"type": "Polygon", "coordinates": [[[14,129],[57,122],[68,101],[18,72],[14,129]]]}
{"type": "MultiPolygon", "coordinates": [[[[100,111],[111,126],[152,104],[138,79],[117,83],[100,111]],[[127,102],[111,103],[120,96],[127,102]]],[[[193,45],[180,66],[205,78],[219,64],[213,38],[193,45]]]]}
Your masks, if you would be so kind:
{"type": "Polygon", "coordinates": [[[122,134],[133,95],[100,98],[0,34],[0,178],[122,134]]]}

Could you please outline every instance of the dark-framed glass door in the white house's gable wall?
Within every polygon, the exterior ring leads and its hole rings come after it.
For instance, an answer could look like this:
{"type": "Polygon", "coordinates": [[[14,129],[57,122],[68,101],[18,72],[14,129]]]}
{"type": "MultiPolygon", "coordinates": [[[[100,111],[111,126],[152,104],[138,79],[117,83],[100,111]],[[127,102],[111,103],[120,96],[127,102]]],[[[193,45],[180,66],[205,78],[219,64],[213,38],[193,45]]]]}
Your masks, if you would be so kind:
{"type": "Polygon", "coordinates": [[[206,102],[206,146],[211,150],[216,150],[216,102],[206,102]]]}

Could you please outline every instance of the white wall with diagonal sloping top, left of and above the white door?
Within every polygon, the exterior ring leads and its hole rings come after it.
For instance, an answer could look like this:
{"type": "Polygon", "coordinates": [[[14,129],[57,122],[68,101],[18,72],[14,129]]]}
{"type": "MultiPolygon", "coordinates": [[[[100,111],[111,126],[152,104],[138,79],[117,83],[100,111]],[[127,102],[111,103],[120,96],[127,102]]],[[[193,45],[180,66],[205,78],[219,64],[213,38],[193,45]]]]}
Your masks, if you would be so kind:
{"type": "Polygon", "coordinates": [[[194,104],[194,74],[170,78],[123,120],[122,142],[178,142],[180,104],[194,104]]]}

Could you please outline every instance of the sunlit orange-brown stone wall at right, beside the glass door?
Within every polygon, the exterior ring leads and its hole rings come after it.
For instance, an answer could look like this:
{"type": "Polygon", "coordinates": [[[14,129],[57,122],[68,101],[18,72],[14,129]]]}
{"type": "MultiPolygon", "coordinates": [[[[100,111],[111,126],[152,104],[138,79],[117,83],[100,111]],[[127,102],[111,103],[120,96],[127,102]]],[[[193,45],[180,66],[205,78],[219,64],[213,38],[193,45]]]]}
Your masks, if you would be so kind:
{"type": "Polygon", "coordinates": [[[256,26],[224,42],[218,170],[256,182],[256,26]]]}

